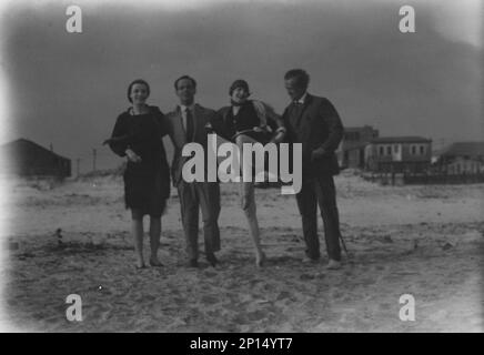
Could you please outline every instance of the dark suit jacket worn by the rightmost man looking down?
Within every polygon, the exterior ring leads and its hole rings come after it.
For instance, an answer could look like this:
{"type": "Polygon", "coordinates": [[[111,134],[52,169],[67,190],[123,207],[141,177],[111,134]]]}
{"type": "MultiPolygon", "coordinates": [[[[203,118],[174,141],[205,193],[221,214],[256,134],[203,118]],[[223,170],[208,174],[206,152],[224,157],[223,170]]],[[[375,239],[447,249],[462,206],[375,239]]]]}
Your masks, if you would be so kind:
{"type": "MultiPolygon", "coordinates": [[[[282,115],[289,143],[302,143],[302,174],[307,176],[336,175],[340,172],[335,150],[343,139],[343,124],[333,104],[325,98],[307,93],[300,114],[291,103],[282,115]],[[311,161],[314,150],[323,152],[311,161]]],[[[292,153],[291,155],[292,156],[292,153]]]]}

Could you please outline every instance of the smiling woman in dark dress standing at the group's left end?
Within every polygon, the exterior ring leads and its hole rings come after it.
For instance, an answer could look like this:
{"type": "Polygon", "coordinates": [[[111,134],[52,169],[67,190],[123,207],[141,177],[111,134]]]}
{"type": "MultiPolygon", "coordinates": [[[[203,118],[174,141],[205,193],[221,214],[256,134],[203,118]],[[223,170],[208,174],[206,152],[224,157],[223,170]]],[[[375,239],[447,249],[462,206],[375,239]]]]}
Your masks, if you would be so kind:
{"type": "Polygon", "coordinates": [[[128,88],[132,103],[118,116],[111,139],[107,141],[119,156],[127,156],[124,201],[131,210],[131,231],[134,240],[137,267],[145,267],[143,258],[143,216],[150,216],[151,266],[162,266],[158,260],[161,215],[170,196],[170,172],[161,136],[163,113],[145,103],[150,87],[134,80],[128,88]]]}

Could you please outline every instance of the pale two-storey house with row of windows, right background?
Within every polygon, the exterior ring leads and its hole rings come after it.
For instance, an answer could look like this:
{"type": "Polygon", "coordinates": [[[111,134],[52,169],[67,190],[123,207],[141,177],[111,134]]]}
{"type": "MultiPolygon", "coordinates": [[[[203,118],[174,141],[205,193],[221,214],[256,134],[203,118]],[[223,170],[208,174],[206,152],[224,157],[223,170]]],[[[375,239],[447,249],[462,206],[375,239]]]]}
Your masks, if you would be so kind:
{"type": "Polygon", "coordinates": [[[365,169],[384,173],[423,173],[432,160],[432,140],[422,136],[381,136],[364,148],[365,169]]]}

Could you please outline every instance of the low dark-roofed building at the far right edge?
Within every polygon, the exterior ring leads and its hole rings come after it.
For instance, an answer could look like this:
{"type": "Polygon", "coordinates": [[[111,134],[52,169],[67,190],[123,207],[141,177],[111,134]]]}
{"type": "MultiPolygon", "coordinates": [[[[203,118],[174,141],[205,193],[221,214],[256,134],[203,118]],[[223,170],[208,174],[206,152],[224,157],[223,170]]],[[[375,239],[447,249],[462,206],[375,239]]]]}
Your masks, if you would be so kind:
{"type": "Polygon", "coordinates": [[[440,153],[434,166],[452,175],[484,173],[484,142],[455,142],[440,153]]]}

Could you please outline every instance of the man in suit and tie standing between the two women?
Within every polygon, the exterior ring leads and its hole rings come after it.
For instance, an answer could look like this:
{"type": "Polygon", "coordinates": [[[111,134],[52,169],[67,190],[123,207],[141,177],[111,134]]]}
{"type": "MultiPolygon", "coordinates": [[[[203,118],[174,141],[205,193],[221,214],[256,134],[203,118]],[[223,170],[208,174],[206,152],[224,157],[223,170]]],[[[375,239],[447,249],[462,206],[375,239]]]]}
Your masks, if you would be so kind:
{"type": "MultiPolygon", "coordinates": [[[[199,257],[199,207],[202,209],[203,236],[205,256],[212,266],[218,264],[214,252],[220,251],[220,186],[219,182],[208,182],[206,164],[204,182],[186,182],[182,171],[184,163],[191,156],[183,156],[182,150],[186,143],[195,142],[208,152],[205,125],[216,114],[194,102],[196,81],[183,75],[174,82],[180,104],[165,116],[167,131],[174,145],[173,163],[171,165],[173,185],[178,189],[181,217],[186,242],[189,266],[198,267],[199,257]]],[[[206,160],[205,160],[206,161],[206,160]]]]}

